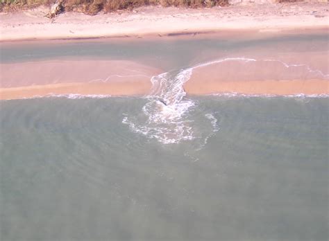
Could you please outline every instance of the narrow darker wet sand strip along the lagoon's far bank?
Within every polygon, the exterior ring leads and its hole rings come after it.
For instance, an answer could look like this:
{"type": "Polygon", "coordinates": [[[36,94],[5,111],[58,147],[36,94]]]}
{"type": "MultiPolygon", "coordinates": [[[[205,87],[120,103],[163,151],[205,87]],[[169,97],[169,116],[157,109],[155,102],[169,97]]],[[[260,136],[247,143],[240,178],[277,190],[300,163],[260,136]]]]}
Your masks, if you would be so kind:
{"type": "MultiPolygon", "coordinates": [[[[329,8],[328,8],[329,11],[329,8]]],[[[329,21],[329,18],[328,18],[329,21]]],[[[260,30],[255,29],[222,29],[222,30],[209,30],[209,31],[178,31],[168,32],[160,35],[159,33],[145,33],[142,35],[109,35],[109,36],[94,36],[94,37],[64,37],[64,38],[29,38],[29,39],[6,39],[1,40],[0,35],[0,46],[15,46],[17,45],[28,45],[28,44],[51,44],[51,43],[81,43],[81,42],[135,42],[135,41],[177,41],[183,39],[210,39],[212,37],[218,37],[219,39],[227,39],[228,37],[241,37],[244,36],[246,39],[268,39],[272,37],[280,36],[294,36],[303,34],[320,34],[329,33],[328,26],[313,26],[310,28],[287,28],[287,29],[274,29],[274,30],[260,30]]]]}

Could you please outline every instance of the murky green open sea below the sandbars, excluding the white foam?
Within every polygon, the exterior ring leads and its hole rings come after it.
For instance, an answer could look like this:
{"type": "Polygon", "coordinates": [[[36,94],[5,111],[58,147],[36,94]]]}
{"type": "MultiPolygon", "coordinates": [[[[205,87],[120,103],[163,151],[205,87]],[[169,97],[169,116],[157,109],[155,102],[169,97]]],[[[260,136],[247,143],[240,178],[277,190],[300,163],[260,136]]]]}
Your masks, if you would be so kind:
{"type": "Polygon", "coordinates": [[[205,145],[131,132],[143,99],[1,102],[1,239],[327,240],[328,98],[196,101],[205,145]]]}

